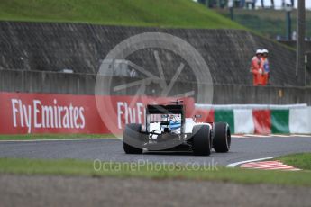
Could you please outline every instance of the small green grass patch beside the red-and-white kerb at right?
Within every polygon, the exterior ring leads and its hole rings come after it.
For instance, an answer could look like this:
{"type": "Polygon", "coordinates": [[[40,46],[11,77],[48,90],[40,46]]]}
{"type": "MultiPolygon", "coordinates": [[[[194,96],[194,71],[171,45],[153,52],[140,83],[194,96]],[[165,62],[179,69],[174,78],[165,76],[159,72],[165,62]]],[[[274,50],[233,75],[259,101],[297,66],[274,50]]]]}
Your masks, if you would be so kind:
{"type": "Polygon", "coordinates": [[[311,153],[299,153],[278,158],[288,166],[295,166],[299,169],[311,170],[311,153]]]}

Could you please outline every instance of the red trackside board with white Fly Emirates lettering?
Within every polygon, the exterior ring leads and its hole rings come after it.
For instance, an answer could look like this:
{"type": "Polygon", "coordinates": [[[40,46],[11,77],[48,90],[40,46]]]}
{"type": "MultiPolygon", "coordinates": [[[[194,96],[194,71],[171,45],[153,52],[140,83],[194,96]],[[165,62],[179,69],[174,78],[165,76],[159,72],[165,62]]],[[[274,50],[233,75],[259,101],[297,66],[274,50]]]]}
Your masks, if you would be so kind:
{"type": "MultiPolygon", "coordinates": [[[[122,133],[126,123],[144,123],[146,104],[168,104],[174,100],[149,96],[137,99],[133,96],[0,93],[0,133],[122,133]]],[[[183,100],[189,116],[194,111],[194,100],[183,100]]]]}

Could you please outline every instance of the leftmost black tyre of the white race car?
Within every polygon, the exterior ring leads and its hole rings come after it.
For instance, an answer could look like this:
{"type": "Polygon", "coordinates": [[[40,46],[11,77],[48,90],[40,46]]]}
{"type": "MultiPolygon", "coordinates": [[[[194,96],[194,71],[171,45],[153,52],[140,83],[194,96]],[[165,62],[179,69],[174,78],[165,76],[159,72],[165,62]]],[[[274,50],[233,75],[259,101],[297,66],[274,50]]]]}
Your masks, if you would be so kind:
{"type": "Polygon", "coordinates": [[[123,133],[123,149],[126,154],[142,154],[142,148],[137,148],[137,146],[140,146],[142,143],[141,130],[141,124],[126,124],[123,133]]]}

